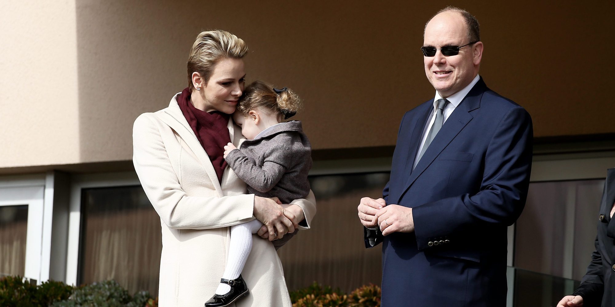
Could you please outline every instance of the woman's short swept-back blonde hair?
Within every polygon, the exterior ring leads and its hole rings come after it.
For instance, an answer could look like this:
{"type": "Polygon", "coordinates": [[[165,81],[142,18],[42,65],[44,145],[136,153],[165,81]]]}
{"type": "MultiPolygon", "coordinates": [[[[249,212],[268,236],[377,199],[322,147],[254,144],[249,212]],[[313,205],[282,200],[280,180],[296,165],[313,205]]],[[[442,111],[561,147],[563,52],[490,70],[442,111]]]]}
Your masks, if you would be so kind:
{"type": "Polygon", "coordinates": [[[239,37],[223,30],[202,31],[196,37],[188,56],[188,87],[192,85],[192,72],[198,72],[205,84],[212,76],[216,63],[223,58],[243,58],[248,46],[239,37]]]}

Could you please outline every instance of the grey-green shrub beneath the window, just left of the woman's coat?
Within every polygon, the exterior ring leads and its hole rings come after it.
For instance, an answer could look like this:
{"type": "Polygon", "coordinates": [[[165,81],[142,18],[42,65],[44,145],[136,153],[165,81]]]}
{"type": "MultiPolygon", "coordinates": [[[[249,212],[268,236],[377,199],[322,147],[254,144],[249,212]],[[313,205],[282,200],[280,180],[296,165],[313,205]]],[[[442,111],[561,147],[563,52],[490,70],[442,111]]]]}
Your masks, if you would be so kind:
{"type": "MultiPolygon", "coordinates": [[[[55,302],[53,307],[145,307],[154,300],[147,291],[131,297],[116,281],[94,282],[74,290],[68,300],[55,302]]],[[[149,305],[149,306],[157,306],[149,305]]]]}

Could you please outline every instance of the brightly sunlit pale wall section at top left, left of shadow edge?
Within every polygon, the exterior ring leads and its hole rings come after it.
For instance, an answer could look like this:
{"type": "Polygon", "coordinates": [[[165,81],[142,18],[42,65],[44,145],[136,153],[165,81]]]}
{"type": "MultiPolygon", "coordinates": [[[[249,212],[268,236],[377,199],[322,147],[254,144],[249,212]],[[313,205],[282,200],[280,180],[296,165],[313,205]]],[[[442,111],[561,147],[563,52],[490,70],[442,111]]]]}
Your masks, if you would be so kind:
{"type": "Polygon", "coordinates": [[[79,161],[74,1],[0,2],[0,168],[79,161]]]}

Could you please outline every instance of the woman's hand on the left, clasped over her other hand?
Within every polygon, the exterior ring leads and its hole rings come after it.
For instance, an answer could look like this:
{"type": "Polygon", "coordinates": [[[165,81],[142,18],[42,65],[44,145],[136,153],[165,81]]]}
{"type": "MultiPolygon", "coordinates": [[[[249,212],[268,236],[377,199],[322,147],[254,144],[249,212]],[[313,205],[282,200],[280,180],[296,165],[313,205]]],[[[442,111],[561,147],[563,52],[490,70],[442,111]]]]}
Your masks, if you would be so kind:
{"type": "Polygon", "coordinates": [[[254,216],[263,222],[267,228],[267,233],[261,233],[263,228],[258,231],[258,235],[268,238],[269,241],[281,239],[285,233],[295,232],[295,214],[287,211],[280,204],[271,198],[254,196],[254,216]]]}

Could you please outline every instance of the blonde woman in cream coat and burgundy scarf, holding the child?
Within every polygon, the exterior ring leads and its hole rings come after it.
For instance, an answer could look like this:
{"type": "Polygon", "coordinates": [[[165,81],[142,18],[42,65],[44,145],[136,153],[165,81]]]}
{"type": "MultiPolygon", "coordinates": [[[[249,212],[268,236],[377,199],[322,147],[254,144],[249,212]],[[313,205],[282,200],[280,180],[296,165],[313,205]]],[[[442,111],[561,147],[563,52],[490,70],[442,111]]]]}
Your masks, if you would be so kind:
{"type": "Polygon", "coordinates": [[[232,114],[244,91],[244,41],[226,31],[204,31],[188,58],[188,87],[169,107],[141,114],[133,127],[133,163],[161,217],[159,305],[203,306],[223,274],[232,225],[260,220],[242,276],[252,292],[236,306],[291,306],[282,264],[270,241],[308,229],[314,195],[282,206],[246,194],[228,167],[223,147],[239,146],[232,114]],[[303,226],[301,226],[303,225],[303,226]]]}

